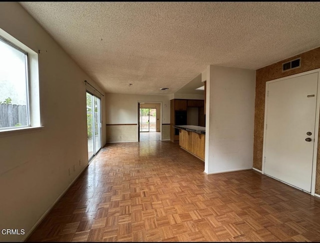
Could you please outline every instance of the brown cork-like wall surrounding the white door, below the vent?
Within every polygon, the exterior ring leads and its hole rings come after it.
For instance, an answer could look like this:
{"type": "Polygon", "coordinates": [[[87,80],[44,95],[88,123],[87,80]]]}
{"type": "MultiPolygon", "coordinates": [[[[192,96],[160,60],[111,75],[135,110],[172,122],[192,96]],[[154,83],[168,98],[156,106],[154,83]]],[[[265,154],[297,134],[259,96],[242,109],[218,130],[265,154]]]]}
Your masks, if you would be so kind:
{"type": "MultiPolygon", "coordinates": [[[[263,128],[264,128],[264,102],[265,82],[280,77],[297,74],[304,71],[320,68],[320,47],[281,60],[271,65],[256,70],[255,82],[255,112],[254,112],[254,143],[253,143],[253,167],[262,170],[263,128]],[[282,63],[301,57],[301,67],[282,72],[282,63]]],[[[320,137],[319,137],[320,138],[320,137]]],[[[320,143],[318,143],[317,173],[315,193],[320,194],[320,143]]]]}

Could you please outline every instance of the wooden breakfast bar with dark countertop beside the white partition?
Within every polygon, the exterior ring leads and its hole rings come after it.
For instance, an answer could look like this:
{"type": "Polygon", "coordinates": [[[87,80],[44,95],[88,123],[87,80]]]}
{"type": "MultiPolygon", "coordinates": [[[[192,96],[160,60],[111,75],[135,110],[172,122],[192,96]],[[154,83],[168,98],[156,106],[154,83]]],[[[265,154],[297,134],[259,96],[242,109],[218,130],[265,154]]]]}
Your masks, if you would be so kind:
{"type": "Polygon", "coordinates": [[[197,125],[174,125],[179,129],[179,145],[204,161],[205,127],[197,125]]]}

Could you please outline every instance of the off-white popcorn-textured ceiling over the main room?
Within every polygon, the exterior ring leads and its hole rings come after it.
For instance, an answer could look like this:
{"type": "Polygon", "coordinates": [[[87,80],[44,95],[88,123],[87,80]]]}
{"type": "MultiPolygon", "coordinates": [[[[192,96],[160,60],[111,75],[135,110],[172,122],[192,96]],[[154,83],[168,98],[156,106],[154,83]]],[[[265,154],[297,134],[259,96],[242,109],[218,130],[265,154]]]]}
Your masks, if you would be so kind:
{"type": "Polygon", "coordinates": [[[209,64],[258,69],[320,46],[320,2],[20,4],[106,92],[173,93],[209,64]]]}

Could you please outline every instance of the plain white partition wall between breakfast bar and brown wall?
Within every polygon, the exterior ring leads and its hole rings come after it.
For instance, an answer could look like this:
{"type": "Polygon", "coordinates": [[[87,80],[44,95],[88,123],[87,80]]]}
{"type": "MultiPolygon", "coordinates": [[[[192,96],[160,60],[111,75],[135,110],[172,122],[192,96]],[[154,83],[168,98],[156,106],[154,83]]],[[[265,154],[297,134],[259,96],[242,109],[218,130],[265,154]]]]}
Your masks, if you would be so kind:
{"type": "Polygon", "coordinates": [[[255,70],[209,65],[206,85],[204,172],[251,168],[255,70]]]}

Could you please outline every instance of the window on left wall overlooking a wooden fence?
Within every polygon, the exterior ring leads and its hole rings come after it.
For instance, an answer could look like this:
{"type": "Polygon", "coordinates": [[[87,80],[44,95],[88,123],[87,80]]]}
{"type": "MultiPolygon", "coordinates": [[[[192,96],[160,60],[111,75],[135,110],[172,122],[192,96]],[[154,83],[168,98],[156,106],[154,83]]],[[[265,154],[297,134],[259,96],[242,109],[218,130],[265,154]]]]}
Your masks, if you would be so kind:
{"type": "Polygon", "coordinates": [[[38,126],[37,53],[0,29],[0,132],[38,126]]]}

